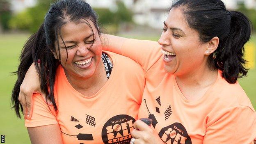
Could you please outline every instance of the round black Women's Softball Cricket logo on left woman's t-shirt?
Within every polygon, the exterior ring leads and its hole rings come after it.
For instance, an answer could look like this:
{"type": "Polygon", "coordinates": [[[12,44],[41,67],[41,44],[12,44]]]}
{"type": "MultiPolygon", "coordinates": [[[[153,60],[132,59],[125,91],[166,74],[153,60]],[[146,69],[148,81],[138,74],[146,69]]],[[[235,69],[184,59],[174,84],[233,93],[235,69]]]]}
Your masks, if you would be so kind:
{"type": "Polygon", "coordinates": [[[110,118],[101,133],[104,144],[130,144],[134,122],[135,119],[126,114],[110,118]]]}

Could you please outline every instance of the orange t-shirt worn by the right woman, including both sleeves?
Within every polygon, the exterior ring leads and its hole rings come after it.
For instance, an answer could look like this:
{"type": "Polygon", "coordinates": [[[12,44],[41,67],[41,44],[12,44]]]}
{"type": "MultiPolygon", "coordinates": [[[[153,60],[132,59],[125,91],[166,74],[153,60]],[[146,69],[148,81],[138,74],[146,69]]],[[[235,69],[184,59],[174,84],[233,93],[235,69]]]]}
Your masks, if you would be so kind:
{"type": "Polygon", "coordinates": [[[229,84],[219,72],[202,98],[188,101],[175,76],[165,72],[157,42],[128,39],[119,53],[144,69],[139,118],[153,119],[165,144],[253,144],[256,112],[238,82],[229,84]]]}

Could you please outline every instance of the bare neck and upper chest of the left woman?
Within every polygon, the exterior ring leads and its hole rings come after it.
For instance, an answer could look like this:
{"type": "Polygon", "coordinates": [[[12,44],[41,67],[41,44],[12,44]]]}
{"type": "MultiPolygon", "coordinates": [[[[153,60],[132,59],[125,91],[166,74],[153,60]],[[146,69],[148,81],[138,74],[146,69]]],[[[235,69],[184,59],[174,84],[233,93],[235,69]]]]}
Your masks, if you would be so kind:
{"type": "Polygon", "coordinates": [[[105,67],[102,61],[97,66],[95,73],[89,78],[81,78],[71,75],[66,71],[65,74],[73,88],[84,96],[96,94],[96,92],[107,82],[105,67]]]}

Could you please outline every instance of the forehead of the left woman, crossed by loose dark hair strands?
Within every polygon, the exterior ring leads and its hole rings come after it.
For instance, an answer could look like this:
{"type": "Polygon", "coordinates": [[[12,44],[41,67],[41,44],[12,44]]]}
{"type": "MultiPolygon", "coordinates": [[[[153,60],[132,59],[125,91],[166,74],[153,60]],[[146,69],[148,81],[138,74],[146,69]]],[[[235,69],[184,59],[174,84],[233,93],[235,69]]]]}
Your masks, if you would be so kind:
{"type": "Polygon", "coordinates": [[[74,39],[76,37],[84,37],[89,34],[95,33],[94,23],[87,19],[79,22],[68,22],[60,29],[63,39],[74,39]]]}

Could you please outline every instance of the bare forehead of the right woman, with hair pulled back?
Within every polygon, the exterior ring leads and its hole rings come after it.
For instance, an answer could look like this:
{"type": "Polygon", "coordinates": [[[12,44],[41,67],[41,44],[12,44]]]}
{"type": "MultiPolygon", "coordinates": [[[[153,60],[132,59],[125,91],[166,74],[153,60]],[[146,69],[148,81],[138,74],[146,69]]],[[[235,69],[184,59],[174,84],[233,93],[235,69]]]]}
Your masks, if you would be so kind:
{"type": "Polygon", "coordinates": [[[168,17],[165,21],[168,27],[177,27],[181,30],[186,30],[189,28],[187,21],[183,14],[183,11],[180,8],[172,8],[169,11],[168,17]]]}

